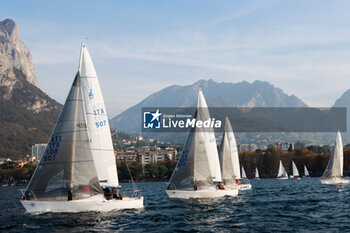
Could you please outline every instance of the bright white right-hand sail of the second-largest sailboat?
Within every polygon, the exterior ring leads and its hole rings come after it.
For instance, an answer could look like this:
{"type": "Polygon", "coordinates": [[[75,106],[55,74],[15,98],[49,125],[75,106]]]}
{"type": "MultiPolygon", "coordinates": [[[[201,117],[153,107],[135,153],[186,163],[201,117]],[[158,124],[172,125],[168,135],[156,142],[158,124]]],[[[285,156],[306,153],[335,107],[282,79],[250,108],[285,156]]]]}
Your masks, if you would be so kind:
{"type": "MultiPolygon", "coordinates": [[[[202,121],[210,118],[208,105],[200,88],[198,90],[197,114],[202,121]]],[[[203,132],[203,136],[205,138],[204,144],[208,155],[212,179],[213,181],[220,182],[222,181],[220,161],[213,128],[206,129],[206,132],[203,132]]]]}

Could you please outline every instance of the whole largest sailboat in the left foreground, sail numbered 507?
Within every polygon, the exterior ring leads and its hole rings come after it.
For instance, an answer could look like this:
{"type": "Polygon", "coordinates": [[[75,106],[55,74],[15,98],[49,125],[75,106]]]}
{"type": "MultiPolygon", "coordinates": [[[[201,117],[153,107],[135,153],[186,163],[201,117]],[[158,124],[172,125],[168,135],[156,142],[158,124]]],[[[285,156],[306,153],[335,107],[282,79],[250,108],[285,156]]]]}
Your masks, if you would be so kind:
{"type": "Polygon", "coordinates": [[[111,211],[143,207],[143,197],[119,192],[110,128],[95,68],[82,43],[75,76],[50,140],[21,203],[29,213],[111,211]]]}

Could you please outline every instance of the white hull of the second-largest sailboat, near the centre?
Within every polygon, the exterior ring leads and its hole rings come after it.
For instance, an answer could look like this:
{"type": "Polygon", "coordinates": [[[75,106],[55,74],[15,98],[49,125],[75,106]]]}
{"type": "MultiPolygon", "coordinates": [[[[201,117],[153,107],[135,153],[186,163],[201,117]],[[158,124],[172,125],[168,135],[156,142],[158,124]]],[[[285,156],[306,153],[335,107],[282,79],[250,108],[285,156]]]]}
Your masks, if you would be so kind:
{"type": "Polygon", "coordinates": [[[237,196],[238,189],[205,189],[196,191],[185,190],[165,190],[169,198],[174,199],[191,199],[191,198],[218,198],[224,196],[237,196]]]}

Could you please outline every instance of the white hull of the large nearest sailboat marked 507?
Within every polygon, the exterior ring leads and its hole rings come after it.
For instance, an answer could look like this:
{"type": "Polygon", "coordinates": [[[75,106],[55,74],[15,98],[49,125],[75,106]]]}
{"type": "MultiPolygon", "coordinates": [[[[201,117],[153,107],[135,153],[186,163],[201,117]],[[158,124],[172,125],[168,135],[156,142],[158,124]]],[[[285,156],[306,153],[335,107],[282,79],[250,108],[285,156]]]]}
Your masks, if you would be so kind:
{"type": "Polygon", "coordinates": [[[21,200],[28,213],[43,212],[107,212],[121,209],[143,208],[143,197],[123,197],[123,200],[106,200],[96,195],[83,200],[73,201],[27,201],[21,200]]]}

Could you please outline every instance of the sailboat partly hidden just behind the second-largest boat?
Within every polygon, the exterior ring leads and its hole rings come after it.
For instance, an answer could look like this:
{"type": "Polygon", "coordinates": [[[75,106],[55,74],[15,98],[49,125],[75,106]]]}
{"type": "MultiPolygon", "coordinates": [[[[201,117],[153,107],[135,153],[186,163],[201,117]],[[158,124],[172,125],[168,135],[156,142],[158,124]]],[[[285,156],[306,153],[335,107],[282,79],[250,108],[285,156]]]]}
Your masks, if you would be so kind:
{"type": "Polygon", "coordinates": [[[219,159],[222,172],[222,180],[225,184],[225,188],[241,188],[242,185],[239,184],[241,174],[239,170],[239,158],[236,139],[228,117],[225,119],[224,133],[219,147],[219,159]]]}

